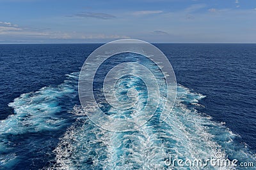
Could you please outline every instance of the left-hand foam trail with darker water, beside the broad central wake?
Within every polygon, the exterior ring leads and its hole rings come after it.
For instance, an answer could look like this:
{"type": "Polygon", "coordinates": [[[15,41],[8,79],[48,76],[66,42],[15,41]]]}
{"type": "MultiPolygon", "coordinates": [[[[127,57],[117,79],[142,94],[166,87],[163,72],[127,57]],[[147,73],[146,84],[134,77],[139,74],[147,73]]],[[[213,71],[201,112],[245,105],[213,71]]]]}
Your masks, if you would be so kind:
{"type": "Polygon", "coordinates": [[[77,80],[78,73],[67,74],[67,80],[58,87],[43,87],[36,92],[22,94],[9,104],[14,114],[0,121],[1,167],[9,169],[20,163],[22,159],[17,150],[20,152],[25,150],[25,153],[20,154],[31,154],[29,150],[32,148],[29,147],[32,147],[32,143],[35,148],[50,145],[46,141],[54,137],[55,134],[51,135],[51,133],[70,125],[71,117],[67,114],[67,110],[74,106],[73,100],[77,97],[77,80]],[[26,140],[28,138],[32,138],[33,141],[30,145],[26,140]],[[44,138],[45,141],[42,140],[44,138]]]}

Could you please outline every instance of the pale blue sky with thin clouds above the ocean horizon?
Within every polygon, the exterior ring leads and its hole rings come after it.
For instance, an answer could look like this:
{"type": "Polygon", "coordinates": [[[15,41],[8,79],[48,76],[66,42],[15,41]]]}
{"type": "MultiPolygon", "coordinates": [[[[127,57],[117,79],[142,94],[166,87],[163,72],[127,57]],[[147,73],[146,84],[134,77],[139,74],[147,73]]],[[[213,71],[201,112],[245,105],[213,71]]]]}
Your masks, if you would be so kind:
{"type": "Polygon", "coordinates": [[[0,0],[0,43],[256,43],[256,0],[0,0]]]}

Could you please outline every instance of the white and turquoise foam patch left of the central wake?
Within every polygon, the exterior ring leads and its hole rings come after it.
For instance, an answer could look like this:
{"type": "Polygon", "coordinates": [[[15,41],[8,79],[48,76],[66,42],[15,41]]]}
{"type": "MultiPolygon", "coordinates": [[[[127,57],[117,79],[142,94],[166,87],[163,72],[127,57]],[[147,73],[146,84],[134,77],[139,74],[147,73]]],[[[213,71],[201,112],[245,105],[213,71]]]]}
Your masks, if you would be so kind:
{"type": "Polygon", "coordinates": [[[72,73],[72,80],[64,82],[58,87],[43,87],[36,92],[21,94],[8,106],[14,113],[0,121],[0,151],[7,152],[1,156],[4,167],[11,168],[19,161],[15,150],[8,146],[8,136],[42,131],[57,131],[68,125],[65,118],[60,116],[63,106],[59,101],[63,96],[76,96],[77,73],[72,73]]]}

